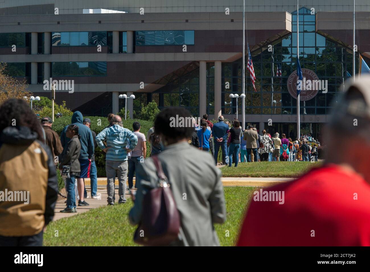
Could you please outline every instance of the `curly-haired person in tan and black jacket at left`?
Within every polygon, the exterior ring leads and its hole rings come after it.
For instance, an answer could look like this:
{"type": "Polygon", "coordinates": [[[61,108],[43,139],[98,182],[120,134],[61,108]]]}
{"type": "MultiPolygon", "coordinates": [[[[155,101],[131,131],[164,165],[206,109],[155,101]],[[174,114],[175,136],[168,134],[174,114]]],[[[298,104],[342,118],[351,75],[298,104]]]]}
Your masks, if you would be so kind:
{"type": "Polygon", "coordinates": [[[40,122],[24,99],[0,106],[0,246],[42,246],[58,182],[40,122]]]}

